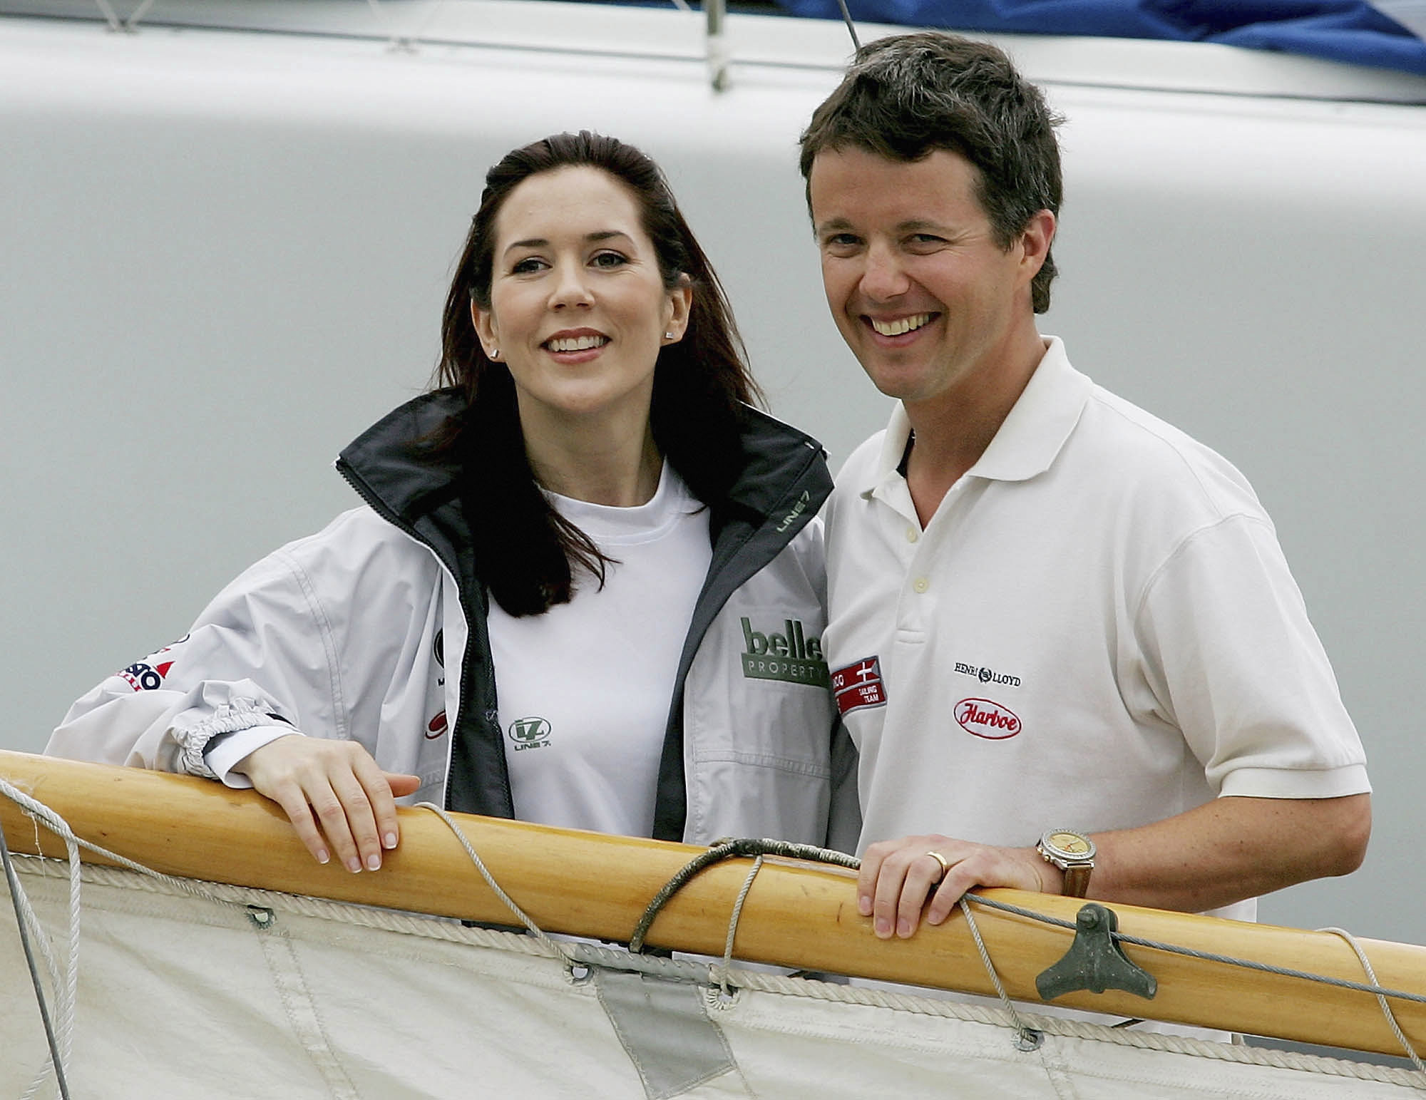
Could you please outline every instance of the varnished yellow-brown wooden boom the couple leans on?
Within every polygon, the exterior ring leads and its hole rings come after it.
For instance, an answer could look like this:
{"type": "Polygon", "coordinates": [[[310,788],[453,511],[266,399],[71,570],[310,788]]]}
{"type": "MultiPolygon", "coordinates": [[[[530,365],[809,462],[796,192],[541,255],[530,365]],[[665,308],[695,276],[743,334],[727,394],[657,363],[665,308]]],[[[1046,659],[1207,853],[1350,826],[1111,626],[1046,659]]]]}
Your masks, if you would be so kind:
{"type": "MultiPolygon", "coordinates": [[[[515,923],[435,814],[401,808],[401,845],[378,872],[318,865],[282,811],[252,791],[138,768],[0,751],[0,778],[46,804],[76,835],[155,871],[469,920],[515,923]]],[[[702,848],[458,814],[461,829],[501,886],[549,932],[627,940],[655,893],[702,848]]],[[[0,797],[14,852],[64,856],[63,842],[0,797]]],[[[84,859],[104,862],[91,858],[84,859]]],[[[653,922],[649,945],[722,955],[749,859],[709,868],[653,922]]],[[[743,906],[734,953],[781,966],[994,995],[965,919],[881,940],[857,913],[856,876],[836,866],[769,859],[743,906]]],[[[991,899],[1074,920],[1082,902],[1021,891],[991,899]]],[[[1366,976],[1345,940],[1323,932],[1114,905],[1119,932],[1353,982],[1366,976]]],[[[980,906],[991,960],[1010,996],[1038,1002],[1035,976],[1074,933],[980,906]]],[[[1360,940],[1387,989],[1426,993],[1426,948],[1360,940]]],[[[1356,1050],[1400,1054],[1375,996],[1278,975],[1125,946],[1158,979],[1152,1000],[1117,990],[1054,1003],[1356,1050]]],[[[1406,1036],[1426,1049],[1426,1005],[1393,1000],[1406,1036]]]]}

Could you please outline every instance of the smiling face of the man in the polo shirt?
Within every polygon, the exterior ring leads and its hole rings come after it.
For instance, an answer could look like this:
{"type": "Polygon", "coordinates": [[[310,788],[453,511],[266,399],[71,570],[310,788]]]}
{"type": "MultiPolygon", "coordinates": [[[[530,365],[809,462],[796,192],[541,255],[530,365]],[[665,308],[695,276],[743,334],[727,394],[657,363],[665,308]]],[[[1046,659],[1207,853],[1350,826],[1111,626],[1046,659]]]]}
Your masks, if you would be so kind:
{"type": "Polygon", "coordinates": [[[977,177],[944,150],[913,162],[824,150],[813,161],[827,305],[877,389],[907,403],[994,386],[1034,328],[1030,281],[1042,255],[1027,255],[1024,238],[995,244],[977,177]]]}

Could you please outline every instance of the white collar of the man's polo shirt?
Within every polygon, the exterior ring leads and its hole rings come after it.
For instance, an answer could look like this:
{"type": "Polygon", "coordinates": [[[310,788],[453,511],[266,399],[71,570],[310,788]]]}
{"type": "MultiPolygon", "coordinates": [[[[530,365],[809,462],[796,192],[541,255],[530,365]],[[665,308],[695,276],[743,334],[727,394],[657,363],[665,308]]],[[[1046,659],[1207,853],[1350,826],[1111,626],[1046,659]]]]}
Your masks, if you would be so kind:
{"type": "MultiPolygon", "coordinates": [[[[1070,365],[1064,341],[1045,336],[1045,355],[1035,373],[967,476],[1025,482],[1048,470],[1079,422],[1089,386],[1089,379],[1070,365]]],[[[897,467],[910,436],[906,406],[897,402],[881,440],[881,455],[867,484],[861,486],[863,496],[871,496],[891,480],[901,480],[897,467]]]]}

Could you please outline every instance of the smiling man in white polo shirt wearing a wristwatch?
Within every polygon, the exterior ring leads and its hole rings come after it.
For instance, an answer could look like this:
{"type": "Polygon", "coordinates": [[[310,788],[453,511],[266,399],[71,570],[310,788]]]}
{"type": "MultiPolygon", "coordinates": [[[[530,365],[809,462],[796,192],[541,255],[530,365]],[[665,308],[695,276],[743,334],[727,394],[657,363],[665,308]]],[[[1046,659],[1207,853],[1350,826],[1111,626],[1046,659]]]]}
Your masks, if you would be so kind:
{"type": "Polygon", "coordinates": [[[863,48],[801,138],[886,432],[827,504],[878,936],[974,886],[1252,919],[1355,869],[1362,747],[1252,489],[1042,338],[1058,120],[997,48],[863,48]]]}

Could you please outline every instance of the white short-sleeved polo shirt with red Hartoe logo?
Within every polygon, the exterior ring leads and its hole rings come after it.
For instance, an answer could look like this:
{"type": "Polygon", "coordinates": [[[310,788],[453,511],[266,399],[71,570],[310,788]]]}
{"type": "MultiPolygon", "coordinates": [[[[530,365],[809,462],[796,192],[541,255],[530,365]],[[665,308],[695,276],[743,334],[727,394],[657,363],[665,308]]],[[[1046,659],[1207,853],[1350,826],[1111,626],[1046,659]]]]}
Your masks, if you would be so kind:
{"type": "Polygon", "coordinates": [[[908,433],[898,405],[824,512],[863,848],[927,832],[1020,846],[1218,795],[1370,789],[1272,523],[1221,456],[1094,385],[1054,338],[925,530],[897,473],[908,433]]]}

